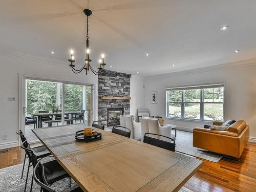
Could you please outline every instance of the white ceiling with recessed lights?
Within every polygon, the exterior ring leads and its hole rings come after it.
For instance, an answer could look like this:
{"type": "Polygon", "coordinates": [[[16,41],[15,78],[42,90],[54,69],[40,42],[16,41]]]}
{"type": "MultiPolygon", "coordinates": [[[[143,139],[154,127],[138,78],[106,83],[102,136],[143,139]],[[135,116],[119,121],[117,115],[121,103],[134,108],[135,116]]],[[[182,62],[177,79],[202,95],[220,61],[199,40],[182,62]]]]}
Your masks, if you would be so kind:
{"type": "Polygon", "coordinates": [[[34,56],[66,62],[72,48],[82,63],[83,9],[90,8],[95,67],[101,52],[106,69],[143,76],[256,57],[255,0],[0,0],[0,5],[0,49],[34,56]],[[229,29],[221,31],[224,25],[229,29]]]}

